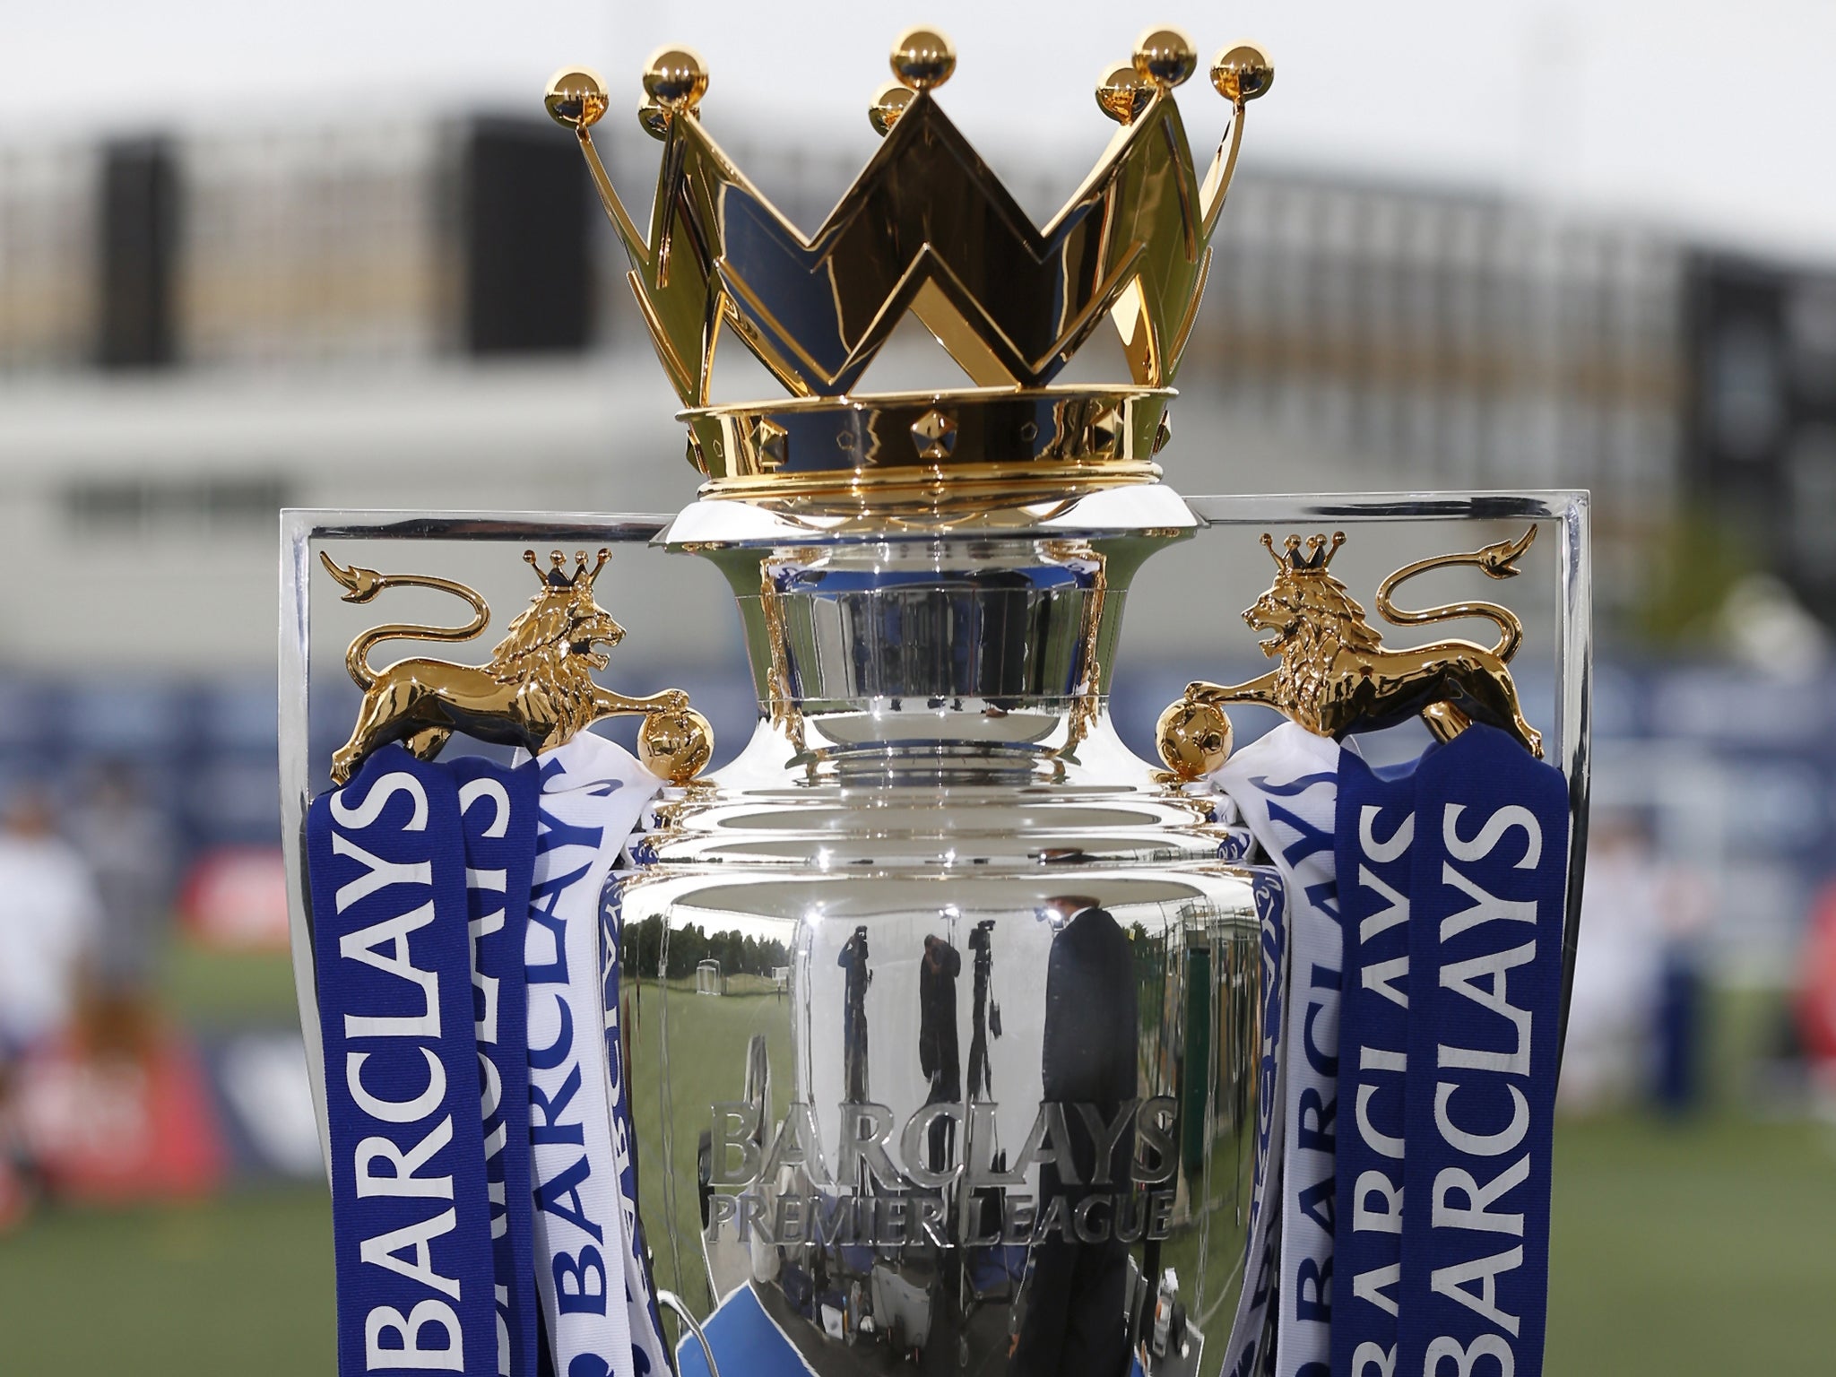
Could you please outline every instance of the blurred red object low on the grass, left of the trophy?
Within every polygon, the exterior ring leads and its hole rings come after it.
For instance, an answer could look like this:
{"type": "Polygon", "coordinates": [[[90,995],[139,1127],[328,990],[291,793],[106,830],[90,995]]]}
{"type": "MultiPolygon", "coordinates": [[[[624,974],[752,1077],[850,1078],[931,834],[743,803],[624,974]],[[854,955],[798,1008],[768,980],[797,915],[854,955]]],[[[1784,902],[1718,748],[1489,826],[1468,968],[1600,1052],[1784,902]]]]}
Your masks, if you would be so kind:
{"type": "Polygon", "coordinates": [[[46,1192],[75,1201],[202,1195],[224,1179],[222,1131],[196,1050],[156,1036],[138,1054],[66,1041],[28,1058],[20,1120],[46,1192]]]}

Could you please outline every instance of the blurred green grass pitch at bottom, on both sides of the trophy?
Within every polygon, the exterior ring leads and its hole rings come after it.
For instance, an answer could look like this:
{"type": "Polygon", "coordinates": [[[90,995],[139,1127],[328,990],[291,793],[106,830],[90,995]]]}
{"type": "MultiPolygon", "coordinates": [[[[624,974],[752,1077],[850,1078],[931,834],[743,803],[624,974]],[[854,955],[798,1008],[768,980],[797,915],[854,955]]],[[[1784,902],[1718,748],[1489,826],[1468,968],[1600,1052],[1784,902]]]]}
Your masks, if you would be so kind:
{"type": "MultiPolygon", "coordinates": [[[[1812,1124],[1566,1122],[1553,1252],[1548,1373],[1829,1373],[1836,1144],[1812,1124]]],[[[0,1371],[334,1370],[319,1192],[46,1210],[0,1237],[0,1371]]]]}

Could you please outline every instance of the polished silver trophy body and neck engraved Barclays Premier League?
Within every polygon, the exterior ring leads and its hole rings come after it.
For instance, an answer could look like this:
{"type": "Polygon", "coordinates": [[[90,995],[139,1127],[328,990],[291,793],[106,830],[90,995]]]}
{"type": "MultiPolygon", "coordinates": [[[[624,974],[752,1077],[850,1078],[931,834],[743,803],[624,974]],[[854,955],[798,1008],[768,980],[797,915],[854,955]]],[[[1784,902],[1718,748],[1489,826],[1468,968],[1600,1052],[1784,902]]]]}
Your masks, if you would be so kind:
{"type": "Polygon", "coordinates": [[[641,1210],[824,1377],[1223,1359],[1269,879],[1103,712],[1173,534],[709,551],[766,722],[617,892],[641,1210]]]}

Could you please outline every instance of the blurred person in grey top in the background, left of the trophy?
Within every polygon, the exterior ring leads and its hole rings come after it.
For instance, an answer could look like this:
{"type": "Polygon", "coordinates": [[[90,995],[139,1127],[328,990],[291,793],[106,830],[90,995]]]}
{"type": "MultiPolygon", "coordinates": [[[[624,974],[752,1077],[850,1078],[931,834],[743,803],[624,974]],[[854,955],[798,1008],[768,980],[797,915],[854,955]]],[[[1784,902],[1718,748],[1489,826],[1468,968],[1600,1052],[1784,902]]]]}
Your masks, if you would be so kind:
{"type": "Polygon", "coordinates": [[[95,1047],[140,1052],[151,1032],[152,982],[171,925],[176,837],[123,762],[97,773],[70,835],[88,863],[99,903],[95,1047]]]}

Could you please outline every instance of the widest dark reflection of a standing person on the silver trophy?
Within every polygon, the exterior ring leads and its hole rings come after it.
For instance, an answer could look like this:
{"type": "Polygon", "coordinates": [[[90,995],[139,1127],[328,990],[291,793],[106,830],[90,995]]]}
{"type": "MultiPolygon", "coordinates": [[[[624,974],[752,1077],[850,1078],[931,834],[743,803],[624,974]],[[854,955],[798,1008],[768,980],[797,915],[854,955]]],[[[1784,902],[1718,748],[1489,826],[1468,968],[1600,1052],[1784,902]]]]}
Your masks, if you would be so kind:
{"type": "MultiPolygon", "coordinates": [[[[1058,935],[1047,960],[1043,1089],[1047,1102],[1091,1105],[1113,1124],[1136,1094],[1135,960],[1129,940],[1096,900],[1047,901],[1058,935]],[[1059,924],[1063,924],[1059,927],[1059,924]]],[[[1070,1160],[1039,1168],[1039,1214],[1056,1195],[1067,1212],[1087,1195],[1125,1197],[1135,1140],[1124,1133],[1096,1162],[1096,1142],[1080,1111],[1065,1114],[1070,1160]]],[[[1034,1248],[1026,1315],[1008,1364],[1012,1377],[1111,1377],[1127,1368],[1129,1250],[1113,1234],[1102,1243],[1048,1236],[1034,1248]]]]}

